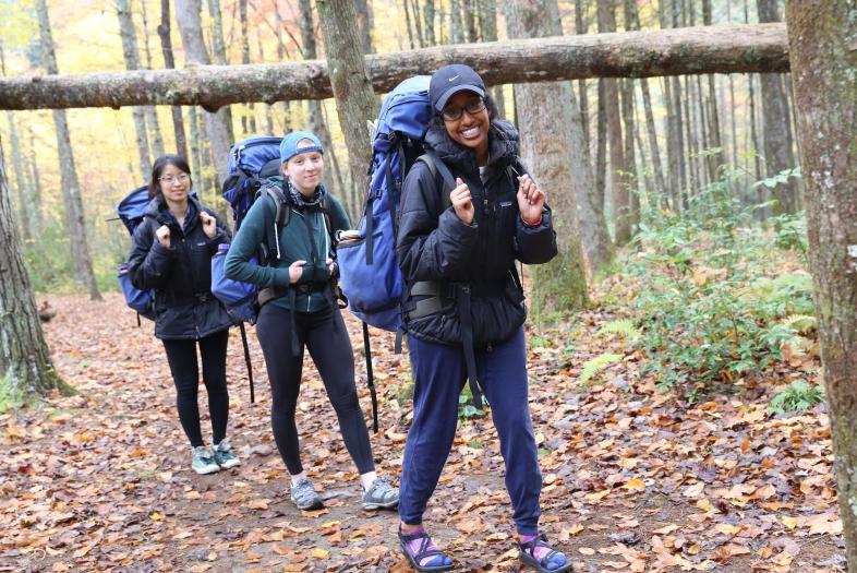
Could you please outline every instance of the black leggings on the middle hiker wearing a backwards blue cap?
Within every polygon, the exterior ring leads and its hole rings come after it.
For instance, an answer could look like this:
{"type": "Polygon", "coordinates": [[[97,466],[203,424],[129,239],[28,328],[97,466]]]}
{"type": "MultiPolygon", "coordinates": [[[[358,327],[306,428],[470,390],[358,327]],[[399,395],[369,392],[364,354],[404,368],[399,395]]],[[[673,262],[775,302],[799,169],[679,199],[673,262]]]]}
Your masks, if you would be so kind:
{"type": "Polygon", "coordinates": [[[270,425],[274,440],[289,474],[303,471],[298,446],[294,410],[301,390],[303,349],[309,348],[327,396],[339,419],[346,449],[360,474],[374,471],[369,430],[354,386],[354,356],[351,341],[339,309],[328,307],[317,312],[295,312],[294,325],[301,356],[291,353],[289,311],[273,303],[265,305],[258,315],[256,335],[265,355],[270,381],[270,425]]]}

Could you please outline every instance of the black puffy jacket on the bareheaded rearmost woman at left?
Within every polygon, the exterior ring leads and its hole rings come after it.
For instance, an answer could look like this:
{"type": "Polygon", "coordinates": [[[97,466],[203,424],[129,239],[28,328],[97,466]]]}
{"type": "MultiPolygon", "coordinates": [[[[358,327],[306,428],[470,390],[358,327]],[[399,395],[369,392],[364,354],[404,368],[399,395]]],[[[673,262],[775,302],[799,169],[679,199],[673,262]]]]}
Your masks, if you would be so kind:
{"type": "Polygon", "coordinates": [[[212,256],[217,246],[229,242],[229,229],[217,214],[191,198],[184,228],[162,199],[149,202],[143,223],[134,229],[129,274],[140,289],[155,289],[155,336],[161,339],[198,339],[232,325],[226,308],[212,295],[212,256]],[[209,239],[200,211],[217,219],[217,235],[209,239]],[[167,225],[170,248],[158,242],[155,231],[167,225]]]}

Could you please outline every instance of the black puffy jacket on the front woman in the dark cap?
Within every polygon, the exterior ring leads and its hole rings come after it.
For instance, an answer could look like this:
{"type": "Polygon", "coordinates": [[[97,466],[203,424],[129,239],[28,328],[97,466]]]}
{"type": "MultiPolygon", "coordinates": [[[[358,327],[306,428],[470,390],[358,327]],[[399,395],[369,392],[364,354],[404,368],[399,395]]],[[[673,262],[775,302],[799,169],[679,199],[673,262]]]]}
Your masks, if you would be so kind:
{"type": "Polygon", "coordinates": [[[454,142],[443,126],[433,126],[425,143],[454,177],[468,184],[475,216],[471,225],[466,225],[451,206],[443,210],[442,186],[425,164],[418,162],[408,172],[396,243],[399,267],[409,287],[405,329],[420,339],[461,345],[461,299],[456,291],[464,287],[470,293],[473,346],[505,341],[527,318],[515,260],[545,263],[557,253],[551,211],[545,207],[538,227],[528,227],[521,220],[516,174],[526,171],[517,160],[518,132],[511,123],[491,123],[485,183],[480,179],[475,153],[454,142]],[[440,296],[448,301],[443,310],[419,318],[408,315],[421,298],[414,293],[419,289],[413,288],[418,282],[440,285],[440,296]]]}

